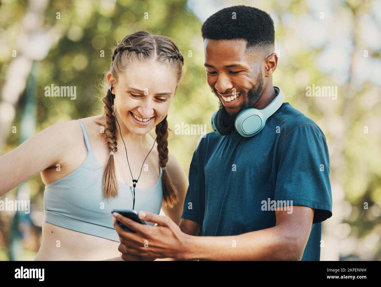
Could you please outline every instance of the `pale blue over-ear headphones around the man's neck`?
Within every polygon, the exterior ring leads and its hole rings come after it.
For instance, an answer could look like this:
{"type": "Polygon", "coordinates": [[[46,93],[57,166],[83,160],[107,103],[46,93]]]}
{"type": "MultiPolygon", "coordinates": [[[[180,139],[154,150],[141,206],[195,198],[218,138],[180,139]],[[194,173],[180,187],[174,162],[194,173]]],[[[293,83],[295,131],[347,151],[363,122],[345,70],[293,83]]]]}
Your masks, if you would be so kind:
{"type": "Polygon", "coordinates": [[[218,111],[215,111],[211,118],[211,126],[216,135],[224,136],[229,135],[233,127],[242,136],[249,138],[263,130],[266,120],[274,114],[282,105],[285,95],[278,86],[274,86],[275,94],[277,95],[271,103],[264,109],[249,108],[244,109],[237,117],[235,117],[234,124],[225,127],[221,121],[221,116],[218,111]]]}

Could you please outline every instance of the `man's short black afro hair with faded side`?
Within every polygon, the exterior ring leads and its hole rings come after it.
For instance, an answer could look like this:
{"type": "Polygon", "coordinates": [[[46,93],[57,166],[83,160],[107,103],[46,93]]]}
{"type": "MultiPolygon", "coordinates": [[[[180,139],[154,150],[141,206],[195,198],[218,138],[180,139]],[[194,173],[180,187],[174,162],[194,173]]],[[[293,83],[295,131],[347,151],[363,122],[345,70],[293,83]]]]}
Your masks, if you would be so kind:
{"type": "Polygon", "coordinates": [[[201,32],[204,40],[245,39],[247,51],[274,46],[274,22],[270,15],[250,6],[219,10],[204,22],[201,32]]]}

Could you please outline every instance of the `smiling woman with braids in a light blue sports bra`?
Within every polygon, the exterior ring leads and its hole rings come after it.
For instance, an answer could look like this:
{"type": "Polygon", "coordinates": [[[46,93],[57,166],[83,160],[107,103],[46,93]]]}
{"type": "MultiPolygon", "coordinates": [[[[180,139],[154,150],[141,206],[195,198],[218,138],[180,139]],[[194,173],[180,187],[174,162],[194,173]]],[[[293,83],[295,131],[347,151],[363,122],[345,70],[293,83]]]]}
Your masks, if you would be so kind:
{"type": "Polygon", "coordinates": [[[162,208],[179,224],[188,181],[168,153],[166,117],[183,64],[170,39],[127,35],[112,55],[104,114],[54,124],[0,157],[0,196],[40,172],[46,184],[35,260],[121,260],[112,209],[162,208]]]}

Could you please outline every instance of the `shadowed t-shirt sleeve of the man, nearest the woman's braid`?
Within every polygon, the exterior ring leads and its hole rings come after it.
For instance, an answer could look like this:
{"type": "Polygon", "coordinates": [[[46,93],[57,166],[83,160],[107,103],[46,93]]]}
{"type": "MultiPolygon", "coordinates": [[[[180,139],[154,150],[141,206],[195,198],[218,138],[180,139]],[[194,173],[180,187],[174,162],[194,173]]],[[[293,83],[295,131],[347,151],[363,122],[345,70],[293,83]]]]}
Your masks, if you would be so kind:
{"type": "Polygon", "coordinates": [[[200,205],[205,204],[205,202],[203,203],[203,200],[200,200],[200,198],[205,194],[205,178],[202,162],[199,160],[200,145],[201,142],[193,153],[191,165],[189,167],[189,187],[185,197],[181,218],[191,219],[202,224],[202,211],[204,206],[200,205]]]}

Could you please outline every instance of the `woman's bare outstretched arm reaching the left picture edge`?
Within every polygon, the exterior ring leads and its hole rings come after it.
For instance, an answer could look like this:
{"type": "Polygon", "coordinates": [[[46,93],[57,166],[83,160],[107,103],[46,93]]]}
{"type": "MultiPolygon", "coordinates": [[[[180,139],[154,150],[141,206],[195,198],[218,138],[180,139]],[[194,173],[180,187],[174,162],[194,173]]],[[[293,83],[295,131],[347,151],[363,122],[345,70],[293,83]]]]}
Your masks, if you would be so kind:
{"type": "Polygon", "coordinates": [[[51,125],[0,157],[0,196],[46,168],[56,166],[70,144],[73,125],[51,125]]]}

